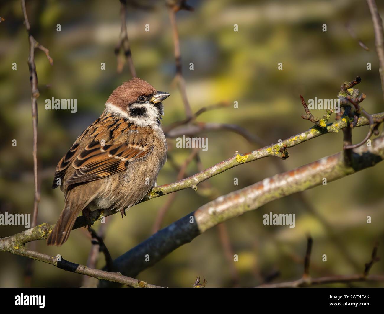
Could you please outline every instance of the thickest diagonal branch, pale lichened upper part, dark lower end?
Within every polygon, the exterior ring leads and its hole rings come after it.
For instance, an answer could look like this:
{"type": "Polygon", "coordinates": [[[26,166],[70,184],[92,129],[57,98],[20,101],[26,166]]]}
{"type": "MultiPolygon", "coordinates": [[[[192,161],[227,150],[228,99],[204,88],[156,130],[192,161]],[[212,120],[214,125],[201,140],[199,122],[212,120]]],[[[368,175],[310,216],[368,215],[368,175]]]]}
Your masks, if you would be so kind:
{"type": "Polygon", "coordinates": [[[331,182],[372,167],[382,159],[384,159],[384,136],[373,140],[372,147],[361,146],[356,149],[352,155],[351,165],[345,163],[343,152],[339,152],[220,196],[119,256],[114,260],[114,266],[126,276],[136,276],[218,223],[255,210],[278,198],[321,185],[324,177],[327,178],[327,182],[331,182]],[[142,256],[145,254],[151,255],[149,262],[144,262],[142,256]]]}

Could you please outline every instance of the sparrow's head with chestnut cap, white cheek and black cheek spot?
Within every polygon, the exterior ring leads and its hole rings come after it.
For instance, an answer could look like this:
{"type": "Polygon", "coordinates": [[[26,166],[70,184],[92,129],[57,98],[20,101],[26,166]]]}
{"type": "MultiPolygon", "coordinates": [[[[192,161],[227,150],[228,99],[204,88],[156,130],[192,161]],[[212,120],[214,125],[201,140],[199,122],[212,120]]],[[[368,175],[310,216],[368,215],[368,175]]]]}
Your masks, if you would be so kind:
{"type": "Polygon", "coordinates": [[[164,115],[162,101],[168,96],[168,93],[157,91],[146,81],[133,78],[116,88],[105,106],[137,126],[154,127],[161,124],[164,115]]]}

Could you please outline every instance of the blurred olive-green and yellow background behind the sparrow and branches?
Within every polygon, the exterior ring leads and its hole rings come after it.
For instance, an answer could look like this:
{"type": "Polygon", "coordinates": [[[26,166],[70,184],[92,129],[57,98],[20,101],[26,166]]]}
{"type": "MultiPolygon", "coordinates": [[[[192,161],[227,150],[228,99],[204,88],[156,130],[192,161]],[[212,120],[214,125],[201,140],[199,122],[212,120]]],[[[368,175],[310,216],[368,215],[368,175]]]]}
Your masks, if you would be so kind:
{"type": "MultiPolygon", "coordinates": [[[[141,2],[140,2],[141,3],[141,2]]],[[[144,2],[143,2],[144,3],[144,2]]],[[[128,7],[127,31],[137,76],[171,96],[164,102],[163,126],[185,118],[184,105],[174,83],[175,58],[172,28],[163,1],[145,2],[150,9],[128,7]],[[145,31],[145,25],[150,31],[145,31]]],[[[365,1],[188,1],[194,12],[177,13],[183,76],[192,110],[228,101],[230,106],[207,111],[197,121],[237,124],[267,144],[312,127],[301,119],[306,100],[336,98],[340,85],[361,76],[357,86],[367,95],[364,109],[384,111],[371,15],[365,1]],[[238,24],[238,32],[233,25],[238,24]],[[324,32],[323,24],[327,25],[324,32]],[[369,48],[364,50],[346,24],[369,48]],[[189,63],[194,63],[194,70],[189,63]],[[278,63],[283,69],[278,70],[278,63]],[[372,69],[367,70],[367,63],[372,69]],[[238,101],[238,108],[233,102],[238,101]]],[[[384,16],[384,3],[377,1],[384,16]]],[[[38,223],[55,223],[63,208],[63,194],[52,190],[55,167],[76,137],[103,111],[114,88],[131,79],[127,64],[117,73],[114,48],[120,33],[120,3],[114,1],[26,1],[32,34],[50,50],[36,50],[38,74],[38,167],[41,201],[38,223]],[[56,25],[61,25],[61,32],[56,25]],[[101,63],[106,64],[101,70],[101,63]],[[45,99],[77,99],[77,112],[45,110],[45,99]]],[[[28,38],[19,1],[2,3],[0,16],[0,210],[2,213],[33,212],[33,159],[30,83],[27,66],[28,38]],[[12,70],[12,63],[17,70],[12,70]],[[12,140],[17,139],[17,147],[12,140]]],[[[313,111],[322,116],[322,111],[313,111]]],[[[333,121],[334,115],[332,117],[333,121]]],[[[353,142],[364,138],[367,127],[353,130],[353,142]]],[[[229,131],[203,132],[209,148],[200,150],[202,166],[210,167],[260,146],[229,131]]],[[[266,158],[240,165],[209,179],[209,183],[176,192],[162,227],[196,210],[213,197],[307,164],[342,149],[342,132],[332,133],[290,148],[287,160],[266,158]],[[238,185],[234,185],[238,178],[238,185]]],[[[176,149],[168,139],[173,164],[182,165],[190,149],[176,149]]],[[[177,177],[172,162],[161,170],[159,185],[177,177]]],[[[193,160],[187,174],[198,172],[193,160]]],[[[262,208],[226,221],[184,245],[137,276],[152,284],[189,287],[205,276],[209,287],[256,286],[271,278],[300,278],[306,234],[313,237],[310,273],[313,277],[361,273],[376,241],[383,244],[384,163],[350,177],[268,203],[262,208]],[[295,213],[296,227],[265,226],[265,213],[295,213]],[[366,223],[367,216],[372,223],[366,223]],[[228,242],[225,241],[227,237],[228,242]],[[226,243],[223,245],[223,243],[226,243]],[[229,245],[228,245],[229,244],[229,245]],[[228,250],[228,246],[230,249],[228,250]],[[224,247],[227,247],[225,249],[224,247]],[[238,262],[227,255],[238,255],[238,262]],[[322,262],[322,255],[327,262],[322,262]]],[[[124,219],[107,218],[105,243],[113,258],[152,234],[159,208],[171,195],[132,207],[124,219]]],[[[100,223],[94,228],[98,230],[100,223]]],[[[25,230],[24,226],[0,226],[0,237],[25,230]]],[[[60,248],[36,241],[36,250],[61,254],[74,263],[86,264],[91,243],[86,229],[72,231],[60,248]]],[[[383,256],[383,245],[379,247],[383,256]]],[[[78,287],[83,276],[34,262],[31,280],[25,278],[27,259],[0,252],[0,286],[78,287]]],[[[98,268],[105,264],[99,256],[98,268]]],[[[371,274],[382,274],[382,262],[371,274]]],[[[96,282],[93,285],[97,284],[96,282]]],[[[344,286],[336,284],[333,286],[344,286]]],[[[384,286],[354,283],[351,286],[384,286]]]]}

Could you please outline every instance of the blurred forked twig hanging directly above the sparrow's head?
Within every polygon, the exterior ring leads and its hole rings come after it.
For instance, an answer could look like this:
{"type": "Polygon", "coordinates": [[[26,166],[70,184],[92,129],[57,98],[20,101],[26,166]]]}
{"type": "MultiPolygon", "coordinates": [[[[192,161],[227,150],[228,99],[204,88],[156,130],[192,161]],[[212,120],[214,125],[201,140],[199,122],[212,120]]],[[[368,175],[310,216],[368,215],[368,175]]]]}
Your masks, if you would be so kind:
{"type": "Polygon", "coordinates": [[[124,67],[124,57],[129,66],[129,71],[131,71],[131,75],[133,78],[136,77],[136,69],[132,61],[132,52],[131,46],[129,45],[128,33],[127,33],[127,0],[120,0],[120,20],[121,20],[121,29],[120,29],[120,37],[119,42],[115,48],[115,55],[118,59],[118,73],[121,73],[124,67]],[[124,56],[119,57],[120,50],[122,50],[124,56]]]}

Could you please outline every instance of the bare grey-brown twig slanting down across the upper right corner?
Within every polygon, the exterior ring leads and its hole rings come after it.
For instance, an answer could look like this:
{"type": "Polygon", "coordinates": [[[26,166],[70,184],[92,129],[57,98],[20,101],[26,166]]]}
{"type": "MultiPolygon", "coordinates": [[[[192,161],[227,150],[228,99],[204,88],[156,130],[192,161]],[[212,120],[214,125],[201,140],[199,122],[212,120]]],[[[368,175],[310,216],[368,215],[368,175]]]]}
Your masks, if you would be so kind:
{"type": "Polygon", "coordinates": [[[384,34],[383,22],[377,10],[375,0],[367,0],[369,11],[371,12],[373,29],[375,32],[375,46],[377,57],[379,58],[379,73],[381,78],[381,89],[384,99],[384,34]]]}

